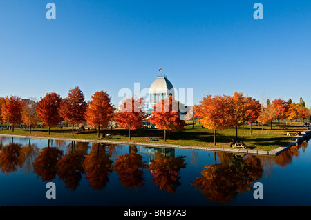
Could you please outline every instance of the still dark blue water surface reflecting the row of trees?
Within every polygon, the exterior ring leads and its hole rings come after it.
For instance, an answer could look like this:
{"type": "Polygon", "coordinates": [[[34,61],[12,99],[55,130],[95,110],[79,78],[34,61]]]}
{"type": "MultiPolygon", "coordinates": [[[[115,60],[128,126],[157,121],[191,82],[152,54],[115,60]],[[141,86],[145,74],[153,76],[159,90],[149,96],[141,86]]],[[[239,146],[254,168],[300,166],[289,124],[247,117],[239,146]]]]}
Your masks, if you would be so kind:
{"type": "Polygon", "coordinates": [[[308,142],[267,157],[0,139],[1,206],[311,206],[308,142]],[[46,198],[50,181],[56,199],[46,198]]]}

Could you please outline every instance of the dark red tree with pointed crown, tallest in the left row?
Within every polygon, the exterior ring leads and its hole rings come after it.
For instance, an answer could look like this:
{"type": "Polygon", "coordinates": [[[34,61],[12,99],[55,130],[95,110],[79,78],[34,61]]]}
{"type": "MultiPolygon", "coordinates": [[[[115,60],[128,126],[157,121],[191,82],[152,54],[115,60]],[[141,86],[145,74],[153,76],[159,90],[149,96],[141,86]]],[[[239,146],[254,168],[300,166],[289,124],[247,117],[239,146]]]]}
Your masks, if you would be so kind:
{"type": "MultiPolygon", "coordinates": [[[[73,124],[84,123],[86,121],[85,114],[88,104],[84,101],[84,94],[78,86],[68,92],[68,97],[62,99],[59,108],[59,114],[65,121],[73,124]]],[[[73,130],[72,130],[73,135],[73,130]]]]}

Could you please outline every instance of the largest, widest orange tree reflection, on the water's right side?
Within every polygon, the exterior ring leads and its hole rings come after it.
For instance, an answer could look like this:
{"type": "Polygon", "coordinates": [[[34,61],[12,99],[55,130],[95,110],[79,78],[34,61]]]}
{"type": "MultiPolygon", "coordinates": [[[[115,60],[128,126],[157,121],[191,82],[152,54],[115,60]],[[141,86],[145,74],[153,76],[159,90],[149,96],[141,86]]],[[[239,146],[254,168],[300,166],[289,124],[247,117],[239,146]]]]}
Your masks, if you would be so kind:
{"type": "Polygon", "coordinates": [[[261,178],[261,161],[252,155],[246,157],[223,153],[219,164],[205,166],[193,183],[205,198],[217,203],[228,203],[238,194],[252,190],[254,181],[261,178]]]}

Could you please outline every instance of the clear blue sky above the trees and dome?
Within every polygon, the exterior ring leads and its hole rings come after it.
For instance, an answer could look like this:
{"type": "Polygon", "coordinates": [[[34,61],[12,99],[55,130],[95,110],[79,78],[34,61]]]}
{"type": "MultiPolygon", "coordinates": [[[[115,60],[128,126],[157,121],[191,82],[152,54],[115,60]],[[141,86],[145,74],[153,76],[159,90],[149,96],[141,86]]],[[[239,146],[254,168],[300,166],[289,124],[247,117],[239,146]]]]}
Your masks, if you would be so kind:
{"type": "Polygon", "coordinates": [[[1,0],[0,97],[66,97],[79,86],[86,100],[104,90],[117,103],[121,88],[147,88],[163,67],[196,103],[243,92],[310,107],[310,36],[310,0],[1,0]]]}

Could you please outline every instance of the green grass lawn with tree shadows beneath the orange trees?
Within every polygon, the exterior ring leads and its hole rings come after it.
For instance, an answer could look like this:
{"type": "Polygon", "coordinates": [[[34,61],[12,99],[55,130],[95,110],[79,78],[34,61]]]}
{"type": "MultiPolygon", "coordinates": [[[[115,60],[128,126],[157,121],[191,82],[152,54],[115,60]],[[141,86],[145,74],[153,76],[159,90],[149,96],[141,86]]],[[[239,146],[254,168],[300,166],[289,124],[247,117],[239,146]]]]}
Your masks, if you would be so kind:
{"type": "MultiPolygon", "coordinates": [[[[278,126],[277,121],[273,123],[272,129],[270,126],[264,126],[264,130],[261,130],[261,126],[252,126],[252,136],[250,134],[249,126],[240,126],[238,128],[238,140],[243,141],[249,149],[253,150],[273,150],[280,146],[284,146],[290,142],[289,136],[286,136],[287,132],[295,133],[298,131],[306,130],[302,127],[303,123],[290,122],[285,125],[285,121],[281,121],[278,126]],[[286,126],[287,129],[282,127],[286,126]]],[[[166,143],[182,146],[202,146],[202,147],[217,147],[217,148],[229,148],[229,143],[232,139],[236,139],[235,128],[221,130],[216,132],[216,146],[213,144],[214,136],[213,131],[207,128],[202,128],[202,124],[185,126],[184,130],[177,132],[167,132],[167,141],[164,142],[164,131],[157,129],[138,129],[131,131],[131,140],[129,140],[129,131],[124,129],[115,130],[101,130],[101,133],[112,134],[113,141],[133,141],[149,143],[149,137],[157,139],[156,143],[166,143]]],[[[15,129],[12,130],[0,130],[0,134],[15,134],[15,135],[31,135],[35,137],[62,137],[62,138],[75,138],[75,139],[90,139],[97,140],[97,130],[84,130],[81,132],[75,132],[72,136],[71,129],[69,128],[52,128],[50,135],[48,135],[48,128],[35,128],[32,129],[32,133],[29,134],[28,129],[15,129]]]]}

